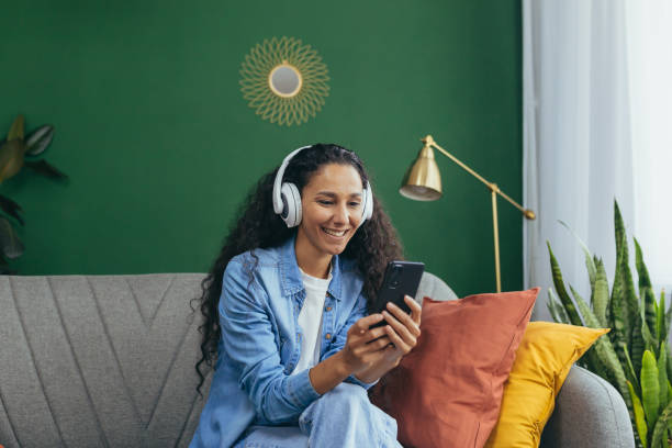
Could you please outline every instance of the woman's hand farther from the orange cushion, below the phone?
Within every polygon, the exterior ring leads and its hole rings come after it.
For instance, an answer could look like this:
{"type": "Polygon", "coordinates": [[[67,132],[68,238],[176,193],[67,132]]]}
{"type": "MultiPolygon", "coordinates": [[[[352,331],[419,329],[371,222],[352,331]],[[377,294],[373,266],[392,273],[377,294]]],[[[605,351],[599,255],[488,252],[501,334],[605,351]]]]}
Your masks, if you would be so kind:
{"type": "Polygon", "coordinates": [[[352,374],[366,370],[377,359],[378,352],[391,344],[384,326],[369,328],[382,320],[382,314],[371,314],[360,318],[348,329],[348,338],[341,351],[352,374]]]}

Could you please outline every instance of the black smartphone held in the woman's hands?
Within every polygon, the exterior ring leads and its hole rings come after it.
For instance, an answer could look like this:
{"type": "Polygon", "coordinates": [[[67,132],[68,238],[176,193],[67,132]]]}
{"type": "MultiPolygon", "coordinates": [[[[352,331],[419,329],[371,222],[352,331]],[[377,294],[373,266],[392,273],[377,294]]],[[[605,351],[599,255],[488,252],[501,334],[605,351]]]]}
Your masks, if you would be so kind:
{"type": "MultiPolygon", "coordinates": [[[[387,310],[388,302],[394,303],[404,312],[411,314],[411,309],[404,302],[404,295],[415,298],[425,264],[416,261],[390,261],[385,268],[383,282],[376,299],[374,313],[387,310]]],[[[371,328],[385,325],[385,321],[371,325],[371,328]]]]}

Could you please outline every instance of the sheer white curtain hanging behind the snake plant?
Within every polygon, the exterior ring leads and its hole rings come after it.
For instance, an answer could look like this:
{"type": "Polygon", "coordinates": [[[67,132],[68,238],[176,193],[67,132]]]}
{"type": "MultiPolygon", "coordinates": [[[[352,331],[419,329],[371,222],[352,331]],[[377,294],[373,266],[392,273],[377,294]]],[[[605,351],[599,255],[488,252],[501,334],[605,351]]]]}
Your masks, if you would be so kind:
{"type": "Polygon", "coordinates": [[[651,133],[660,127],[669,137],[672,123],[662,110],[650,110],[647,98],[670,104],[658,93],[669,93],[672,77],[658,79],[653,91],[645,86],[670,54],[672,35],[661,34],[671,26],[662,26],[663,18],[657,16],[658,34],[645,26],[663,3],[669,7],[668,0],[523,0],[524,202],[538,215],[524,227],[524,272],[526,287],[542,287],[535,320],[550,320],[547,240],[565,282],[590,299],[583,253],[559,220],[602,256],[612,282],[614,199],[628,234],[642,245],[656,287],[672,283],[663,273],[672,273],[672,262],[664,262],[672,238],[659,217],[672,201],[652,184],[665,180],[665,170],[672,173],[672,145],[651,133]],[[653,167],[661,173],[650,176],[653,167]]]}

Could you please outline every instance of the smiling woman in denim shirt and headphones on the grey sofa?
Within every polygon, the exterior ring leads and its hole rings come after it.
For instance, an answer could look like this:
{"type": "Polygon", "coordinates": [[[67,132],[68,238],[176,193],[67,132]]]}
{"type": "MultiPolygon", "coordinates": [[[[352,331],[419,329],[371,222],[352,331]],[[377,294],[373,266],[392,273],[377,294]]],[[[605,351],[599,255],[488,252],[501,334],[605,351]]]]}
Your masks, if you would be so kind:
{"type": "Polygon", "coordinates": [[[190,446],[400,447],[366,390],[419,336],[412,298],[367,315],[401,256],[355,153],[299,148],[262,177],[202,284],[199,391],[216,363],[190,446]]]}

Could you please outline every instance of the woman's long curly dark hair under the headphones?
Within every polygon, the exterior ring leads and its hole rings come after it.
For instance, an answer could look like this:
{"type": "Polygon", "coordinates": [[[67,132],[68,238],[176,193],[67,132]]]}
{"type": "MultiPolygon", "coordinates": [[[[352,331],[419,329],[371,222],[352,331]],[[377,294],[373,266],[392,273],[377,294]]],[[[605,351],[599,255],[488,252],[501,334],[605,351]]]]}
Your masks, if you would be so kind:
{"type": "MultiPolygon", "coordinates": [[[[318,143],[292,157],[284,171],[283,181],[292,182],[299,191],[303,191],[312,176],[327,164],[350,165],[359,172],[362,184],[369,180],[361,160],[355,153],[338,145],[318,143]]],[[[202,334],[202,357],[195,365],[200,378],[197,388],[199,393],[201,393],[206,372],[205,369],[201,371],[201,368],[204,367],[202,365],[205,363],[209,368],[214,365],[217,357],[217,343],[222,337],[217,305],[222,294],[222,278],[226,265],[233,257],[244,251],[280,246],[296,232],[296,227],[288,228],[282,219],[273,212],[273,180],[278,169],[262,176],[257,186],[250,190],[234,219],[234,224],[224,239],[220,255],[201,282],[201,298],[194,299],[204,317],[203,324],[199,327],[202,334]]],[[[367,296],[369,310],[371,310],[388,262],[403,259],[403,249],[396,231],[376,197],[373,197],[371,219],[367,220],[352,235],[341,256],[356,260],[363,277],[363,293],[367,296]]]]}

